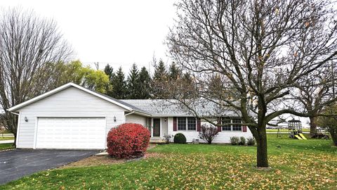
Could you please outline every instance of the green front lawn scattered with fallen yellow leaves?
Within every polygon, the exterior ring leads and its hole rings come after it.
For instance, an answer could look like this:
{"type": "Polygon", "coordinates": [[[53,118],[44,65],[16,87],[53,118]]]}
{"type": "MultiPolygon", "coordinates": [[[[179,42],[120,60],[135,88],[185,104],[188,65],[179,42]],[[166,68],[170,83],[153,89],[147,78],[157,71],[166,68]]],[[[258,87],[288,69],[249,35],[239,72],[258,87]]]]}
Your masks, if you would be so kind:
{"type": "Polygon", "coordinates": [[[39,172],[0,189],[336,189],[331,140],[268,136],[270,170],[257,170],[256,146],[169,144],[145,160],[39,172]]]}

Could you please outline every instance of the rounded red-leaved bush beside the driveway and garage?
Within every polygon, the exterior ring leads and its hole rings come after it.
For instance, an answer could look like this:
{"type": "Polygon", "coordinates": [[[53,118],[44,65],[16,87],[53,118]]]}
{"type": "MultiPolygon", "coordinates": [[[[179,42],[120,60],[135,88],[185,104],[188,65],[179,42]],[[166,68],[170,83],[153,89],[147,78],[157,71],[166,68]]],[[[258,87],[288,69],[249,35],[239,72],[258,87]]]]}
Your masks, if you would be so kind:
{"type": "Polygon", "coordinates": [[[150,131],[143,125],[124,123],[107,134],[107,153],[117,158],[143,156],[150,143],[150,131]]]}

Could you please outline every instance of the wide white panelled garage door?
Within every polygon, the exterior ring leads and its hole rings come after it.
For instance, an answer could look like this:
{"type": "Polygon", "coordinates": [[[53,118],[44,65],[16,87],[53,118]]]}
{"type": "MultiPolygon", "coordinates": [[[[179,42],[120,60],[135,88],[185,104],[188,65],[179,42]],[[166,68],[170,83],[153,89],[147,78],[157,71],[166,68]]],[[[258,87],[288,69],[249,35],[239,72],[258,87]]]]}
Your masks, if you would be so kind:
{"type": "Polygon", "coordinates": [[[105,118],[38,118],[36,148],[103,149],[105,118]]]}

